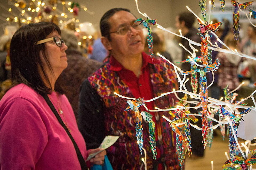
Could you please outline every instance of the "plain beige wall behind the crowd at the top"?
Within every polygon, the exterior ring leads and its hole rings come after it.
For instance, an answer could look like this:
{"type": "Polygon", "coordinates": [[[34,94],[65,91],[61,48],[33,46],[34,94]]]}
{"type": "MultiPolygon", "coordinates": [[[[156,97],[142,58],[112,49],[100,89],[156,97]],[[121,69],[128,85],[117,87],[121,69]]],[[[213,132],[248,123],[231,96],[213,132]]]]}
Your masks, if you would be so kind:
{"type": "MultiPolygon", "coordinates": [[[[28,8],[29,0],[25,1],[27,2],[26,8],[28,8]]],[[[14,2],[14,0],[12,0],[12,2],[14,2]]],[[[86,5],[88,11],[93,12],[91,15],[89,12],[81,10],[77,19],[79,19],[80,22],[88,21],[93,23],[98,30],[101,16],[107,10],[114,7],[128,8],[138,18],[143,17],[137,11],[135,0],[76,0],[75,2],[78,2],[80,5],[86,5]]],[[[6,22],[6,18],[11,15],[10,12],[6,11],[6,9],[12,8],[14,15],[21,13],[17,10],[16,7],[10,5],[10,0],[1,0],[0,4],[0,35],[2,35],[3,27],[1,26],[8,24],[6,22]]],[[[175,16],[182,11],[187,11],[186,5],[188,5],[196,14],[200,12],[198,0],[138,0],[138,5],[141,12],[145,12],[152,19],[158,19],[158,23],[163,27],[174,27],[175,16]]],[[[57,7],[60,11],[62,11],[61,4],[58,4],[57,7]]],[[[15,23],[13,24],[15,25],[15,23]]]]}

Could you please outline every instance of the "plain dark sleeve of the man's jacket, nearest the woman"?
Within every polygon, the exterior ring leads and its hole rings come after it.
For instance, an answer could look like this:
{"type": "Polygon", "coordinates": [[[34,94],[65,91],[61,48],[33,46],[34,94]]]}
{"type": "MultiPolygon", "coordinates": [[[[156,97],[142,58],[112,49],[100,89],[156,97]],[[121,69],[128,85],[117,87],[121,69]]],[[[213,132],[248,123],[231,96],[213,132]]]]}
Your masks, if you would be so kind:
{"type": "Polygon", "coordinates": [[[87,149],[99,147],[105,137],[103,101],[86,79],[80,88],[78,128],[87,149]]]}

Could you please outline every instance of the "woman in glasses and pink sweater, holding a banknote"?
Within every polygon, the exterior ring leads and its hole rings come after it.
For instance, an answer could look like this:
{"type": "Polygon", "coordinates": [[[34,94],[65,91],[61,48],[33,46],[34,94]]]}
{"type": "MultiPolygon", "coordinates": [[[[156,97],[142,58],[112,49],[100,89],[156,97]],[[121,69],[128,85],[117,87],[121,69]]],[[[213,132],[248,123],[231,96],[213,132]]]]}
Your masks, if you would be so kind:
{"type": "MultiPolygon", "coordinates": [[[[60,84],[67,67],[61,31],[51,22],[19,28],[10,45],[12,86],[0,101],[0,169],[85,169],[86,150],[60,84]]],[[[91,163],[102,164],[106,151],[91,163]]]]}

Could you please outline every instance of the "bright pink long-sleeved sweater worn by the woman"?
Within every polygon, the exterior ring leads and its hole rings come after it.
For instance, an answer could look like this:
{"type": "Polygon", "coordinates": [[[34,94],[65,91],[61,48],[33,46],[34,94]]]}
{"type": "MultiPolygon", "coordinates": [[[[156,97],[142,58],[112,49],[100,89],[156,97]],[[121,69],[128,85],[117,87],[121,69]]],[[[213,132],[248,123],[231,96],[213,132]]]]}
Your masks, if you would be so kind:
{"type": "MultiPolygon", "coordinates": [[[[58,95],[63,122],[86,158],[85,141],[65,95],[58,95]]],[[[49,95],[57,112],[57,95],[49,95]]],[[[0,101],[0,169],[81,169],[74,145],[41,95],[25,84],[0,101]]]]}

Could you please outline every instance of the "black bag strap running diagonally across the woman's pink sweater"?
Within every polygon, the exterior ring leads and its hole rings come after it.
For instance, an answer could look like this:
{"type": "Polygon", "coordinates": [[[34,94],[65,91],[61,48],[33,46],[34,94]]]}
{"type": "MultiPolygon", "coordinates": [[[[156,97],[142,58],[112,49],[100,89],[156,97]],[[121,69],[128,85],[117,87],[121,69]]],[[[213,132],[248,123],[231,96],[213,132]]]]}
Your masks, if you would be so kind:
{"type": "Polygon", "coordinates": [[[53,113],[55,114],[55,116],[57,117],[59,123],[62,125],[62,127],[65,129],[65,131],[67,132],[67,134],[69,135],[71,141],[73,142],[73,145],[75,147],[75,151],[77,152],[77,157],[79,160],[79,163],[81,165],[81,169],[82,170],[87,170],[87,165],[85,163],[85,159],[83,159],[83,156],[77,146],[77,144],[75,143],[74,138],[72,137],[72,135],[70,134],[69,130],[67,129],[66,125],[64,124],[64,122],[62,121],[61,117],[59,116],[58,112],[56,111],[56,109],[54,108],[53,104],[51,103],[49,97],[47,96],[47,94],[43,94],[42,95],[43,98],[45,99],[46,103],[49,105],[49,107],[51,108],[51,110],[53,111],[53,113]]]}

